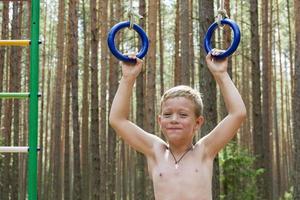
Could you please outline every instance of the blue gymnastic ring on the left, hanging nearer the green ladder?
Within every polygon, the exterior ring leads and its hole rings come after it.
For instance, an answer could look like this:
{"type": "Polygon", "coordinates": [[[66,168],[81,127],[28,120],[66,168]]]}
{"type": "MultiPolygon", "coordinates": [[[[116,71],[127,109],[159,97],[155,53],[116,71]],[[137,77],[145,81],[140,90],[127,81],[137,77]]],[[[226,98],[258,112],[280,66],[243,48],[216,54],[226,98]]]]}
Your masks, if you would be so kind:
{"type": "MultiPolygon", "coordinates": [[[[120,31],[121,29],[123,29],[125,27],[129,27],[129,26],[130,26],[129,21],[120,22],[120,23],[114,25],[108,33],[107,44],[108,44],[108,47],[109,47],[111,53],[119,60],[125,61],[125,62],[135,62],[136,61],[135,59],[129,58],[127,55],[123,55],[116,48],[116,45],[115,45],[115,37],[116,37],[117,32],[120,31]]],[[[133,24],[133,29],[139,34],[139,36],[141,38],[141,43],[142,43],[141,49],[138,52],[138,54],[136,55],[136,57],[139,59],[142,59],[148,52],[148,47],[149,47],[148,37],[147,37],[146,33],[144,32],[144,30],[137,24],[133,24]]]]}

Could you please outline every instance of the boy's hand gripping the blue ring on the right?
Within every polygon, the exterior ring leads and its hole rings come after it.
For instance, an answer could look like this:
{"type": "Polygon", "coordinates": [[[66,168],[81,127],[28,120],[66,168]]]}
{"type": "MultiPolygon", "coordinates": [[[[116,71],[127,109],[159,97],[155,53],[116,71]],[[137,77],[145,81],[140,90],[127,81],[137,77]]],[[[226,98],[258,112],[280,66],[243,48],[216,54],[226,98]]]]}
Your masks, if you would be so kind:
{"type": "Polygon", "coordinates": [[[209,54],[206,56],[206,63],[210,72],[215,76],[218,74],[223,74],[227,72],[228,66],[228,59],[220,59],[214,56],[223,53],[224,50],[213,49],[209,54]]]}

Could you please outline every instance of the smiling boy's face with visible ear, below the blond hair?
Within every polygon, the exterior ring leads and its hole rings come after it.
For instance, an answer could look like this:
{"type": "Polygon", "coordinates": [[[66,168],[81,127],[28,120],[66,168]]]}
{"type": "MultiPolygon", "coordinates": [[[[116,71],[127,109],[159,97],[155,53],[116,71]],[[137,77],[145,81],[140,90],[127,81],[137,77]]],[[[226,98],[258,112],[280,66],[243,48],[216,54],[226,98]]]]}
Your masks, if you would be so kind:
{"type": "Polygon", "coordinates": [[[202,116],[195,115],[195,104],[185,97],[167,99],[158,116],[158,123],[169,142],[192,140],[203,121],[202,116]]]}

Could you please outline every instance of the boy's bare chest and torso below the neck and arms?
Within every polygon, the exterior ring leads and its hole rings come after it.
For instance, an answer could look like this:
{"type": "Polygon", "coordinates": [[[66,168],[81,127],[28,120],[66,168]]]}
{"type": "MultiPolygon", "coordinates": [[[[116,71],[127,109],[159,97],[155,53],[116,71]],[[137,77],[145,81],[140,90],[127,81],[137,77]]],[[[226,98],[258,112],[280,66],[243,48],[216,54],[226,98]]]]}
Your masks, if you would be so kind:
{"type": "Polygon", "coordinates": [[[213,160],[203,157],[203,148],[195,145],[176,166],[166,146],[155,148],[155,159],[148,158],[155,199],[211,200],[213,160]]]}

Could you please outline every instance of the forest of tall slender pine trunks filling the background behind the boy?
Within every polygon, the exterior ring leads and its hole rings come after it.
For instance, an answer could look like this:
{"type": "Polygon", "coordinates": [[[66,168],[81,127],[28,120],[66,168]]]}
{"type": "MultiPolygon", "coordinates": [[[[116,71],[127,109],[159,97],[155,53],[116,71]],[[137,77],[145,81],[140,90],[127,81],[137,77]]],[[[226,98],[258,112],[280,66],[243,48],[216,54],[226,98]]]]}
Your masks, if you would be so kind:
{"type": "MultiPolygon", "coordinates": [[[[35,1],[0,0],[0,92],[30,90],[30,48],[1,40],[30,38],[35,1]]],[[[196,141],[227,114],[203,45],[224,7],[241,31],[228,74],[247,118],[214,160],[213,199],[300,200],[300,0],[40,0],[39,6],[38,199],[154,199],[146,158],[109,124],[122,71],[108,32],[134,12],[149,39],[129,119],[163,138],[161,96],[188,85],[204,104],[196,141]]],[[[228,26],[218,27],[213,46],[227,49],[232,38],[228,26]]],[[[129,28],[115,42],[124,53],[140,49],[129,28]]],[[[29,100],[0,97],[0,146],[28,146],[29,100]]],[[[0,199],[28,199],[28,182],[28,155],[0,152],[0,199]]]]}

